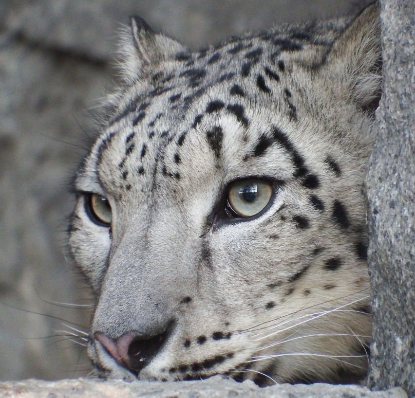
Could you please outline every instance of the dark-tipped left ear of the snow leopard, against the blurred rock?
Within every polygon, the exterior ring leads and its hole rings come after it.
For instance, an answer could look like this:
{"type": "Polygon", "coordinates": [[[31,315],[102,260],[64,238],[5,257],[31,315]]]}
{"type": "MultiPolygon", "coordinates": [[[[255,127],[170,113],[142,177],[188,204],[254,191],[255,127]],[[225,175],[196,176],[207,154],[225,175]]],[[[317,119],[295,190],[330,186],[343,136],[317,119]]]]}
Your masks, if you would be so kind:
{"type": "Polygon", "coordinates": [[[118,51],[121,78],[126,82],[145,77],[161,62],[189,52],[172,38],[154,32],[143,18],[131,17],[130,27],[129,32],[123,33],[118,51]]]}

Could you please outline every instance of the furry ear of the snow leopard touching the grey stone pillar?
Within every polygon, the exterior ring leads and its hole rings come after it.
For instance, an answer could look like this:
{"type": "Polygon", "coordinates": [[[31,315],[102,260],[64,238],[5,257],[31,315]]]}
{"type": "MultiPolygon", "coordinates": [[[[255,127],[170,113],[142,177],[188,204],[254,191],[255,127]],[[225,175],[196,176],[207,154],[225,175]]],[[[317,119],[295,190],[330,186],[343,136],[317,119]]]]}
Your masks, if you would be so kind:
{"type": "Polygon", "coordinates": [[[372,4],[335,40],[326,67],[341,90],[369,113],[377,108],[382,89],[380,6],[372,4]]]}

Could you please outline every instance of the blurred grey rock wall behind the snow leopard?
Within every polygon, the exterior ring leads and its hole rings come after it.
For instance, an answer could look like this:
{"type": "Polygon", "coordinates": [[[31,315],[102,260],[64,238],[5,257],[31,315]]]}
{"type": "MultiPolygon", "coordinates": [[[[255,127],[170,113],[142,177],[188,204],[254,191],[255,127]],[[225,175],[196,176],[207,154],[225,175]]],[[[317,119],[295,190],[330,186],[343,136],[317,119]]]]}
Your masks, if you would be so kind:
{"type": "Polygon", "coordinates": [[[82,347],[60,330],[87,329],[90,308],[56,303],[91,303],[65,256],[70,182],[94,136],[97,100],[113,84],[117,29],[128,16],[197,48],[368,2],[0,1],[0,380],[89,372],[82,347]]]}

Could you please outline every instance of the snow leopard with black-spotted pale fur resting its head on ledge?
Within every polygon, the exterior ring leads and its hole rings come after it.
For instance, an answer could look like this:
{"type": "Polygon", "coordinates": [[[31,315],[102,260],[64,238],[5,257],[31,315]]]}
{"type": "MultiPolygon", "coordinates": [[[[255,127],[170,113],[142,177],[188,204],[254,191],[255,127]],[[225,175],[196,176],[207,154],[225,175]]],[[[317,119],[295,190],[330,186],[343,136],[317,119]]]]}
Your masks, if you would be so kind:
{"type": "Polygon", "coordinates": [[[139,17],[75,177],[94,374],[364,380],[379,6],[200,51],[139,17]]]}

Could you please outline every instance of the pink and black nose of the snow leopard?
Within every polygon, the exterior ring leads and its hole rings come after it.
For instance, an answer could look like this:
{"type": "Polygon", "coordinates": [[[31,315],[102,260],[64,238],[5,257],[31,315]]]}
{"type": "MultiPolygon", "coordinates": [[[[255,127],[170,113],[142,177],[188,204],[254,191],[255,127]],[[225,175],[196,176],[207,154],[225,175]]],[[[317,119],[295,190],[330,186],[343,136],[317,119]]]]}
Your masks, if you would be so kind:
{"type": "Polygon", "coordinates": [[[119,365],[138,375],[141,369],[157,355],[167,335],[167,332],[156,336],[142,336],[136,332],[129,332],[117,339],[111,339],[103,333],[95,332],[94,338],[119,365]]]}

